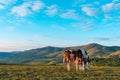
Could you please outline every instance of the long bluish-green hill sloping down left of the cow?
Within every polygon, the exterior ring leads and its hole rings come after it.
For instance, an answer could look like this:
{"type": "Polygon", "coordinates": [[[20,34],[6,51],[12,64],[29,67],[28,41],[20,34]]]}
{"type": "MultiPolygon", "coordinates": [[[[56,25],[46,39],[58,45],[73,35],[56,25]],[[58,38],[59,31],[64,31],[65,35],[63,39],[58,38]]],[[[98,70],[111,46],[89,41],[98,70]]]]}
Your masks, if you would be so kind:
{"type": "Polygon", "coordinates": [[[10,57],[7,63],[28,63],[34,60],[43,60],[46,58],[51,58],[51,57],[48,57],[49,54],[62,52],[66,49],[67,48],[48,46],[48,47],[43,47],[43,48],[26,50],[23,52],[19,52],[13,55],[12,57],[10,57]]]}

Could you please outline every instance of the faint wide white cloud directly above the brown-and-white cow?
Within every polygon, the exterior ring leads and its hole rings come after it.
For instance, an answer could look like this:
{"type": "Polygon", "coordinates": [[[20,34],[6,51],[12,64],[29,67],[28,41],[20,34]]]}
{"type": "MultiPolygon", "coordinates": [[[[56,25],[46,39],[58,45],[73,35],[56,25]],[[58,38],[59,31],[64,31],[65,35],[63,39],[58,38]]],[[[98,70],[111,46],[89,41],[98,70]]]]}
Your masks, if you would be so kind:
{"type": "Polygon", "coordinates": [[[79,19],[80,18],[80,15],[77,14],[75,10],[67,10],[65,13],[62,13],[60,16],[66,19],[79,19]]]}

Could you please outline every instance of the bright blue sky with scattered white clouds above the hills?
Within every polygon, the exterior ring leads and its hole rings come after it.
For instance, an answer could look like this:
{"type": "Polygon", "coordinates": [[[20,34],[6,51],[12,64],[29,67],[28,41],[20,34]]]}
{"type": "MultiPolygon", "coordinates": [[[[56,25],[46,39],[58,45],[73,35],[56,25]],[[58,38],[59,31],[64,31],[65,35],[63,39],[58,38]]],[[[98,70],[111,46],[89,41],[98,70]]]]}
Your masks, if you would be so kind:
{"type": "Polygon", "coordinates": [[[0,0],[0,51],[120,46],[120,0],[0,0]]]}

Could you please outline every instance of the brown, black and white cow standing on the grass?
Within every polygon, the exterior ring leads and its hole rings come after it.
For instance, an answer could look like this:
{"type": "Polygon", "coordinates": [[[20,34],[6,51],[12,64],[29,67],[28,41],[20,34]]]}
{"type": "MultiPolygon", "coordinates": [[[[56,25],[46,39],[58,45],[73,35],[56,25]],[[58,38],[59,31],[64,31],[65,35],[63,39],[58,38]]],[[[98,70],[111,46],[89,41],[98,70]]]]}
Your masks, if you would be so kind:
{"type": "Polygon", "coordinates": [[[70,65],[71,63],[75,63],[76,65],[76,71],[83,70],[85,67],[88,67],[88,70],[90,70],[90,60],[87,52],[84,49],[79,49],[77,51],[74,50],[66,50],[64,52],[64,58],[63,62],[66,63],[67,70],[70,71],[70,65]]]}

